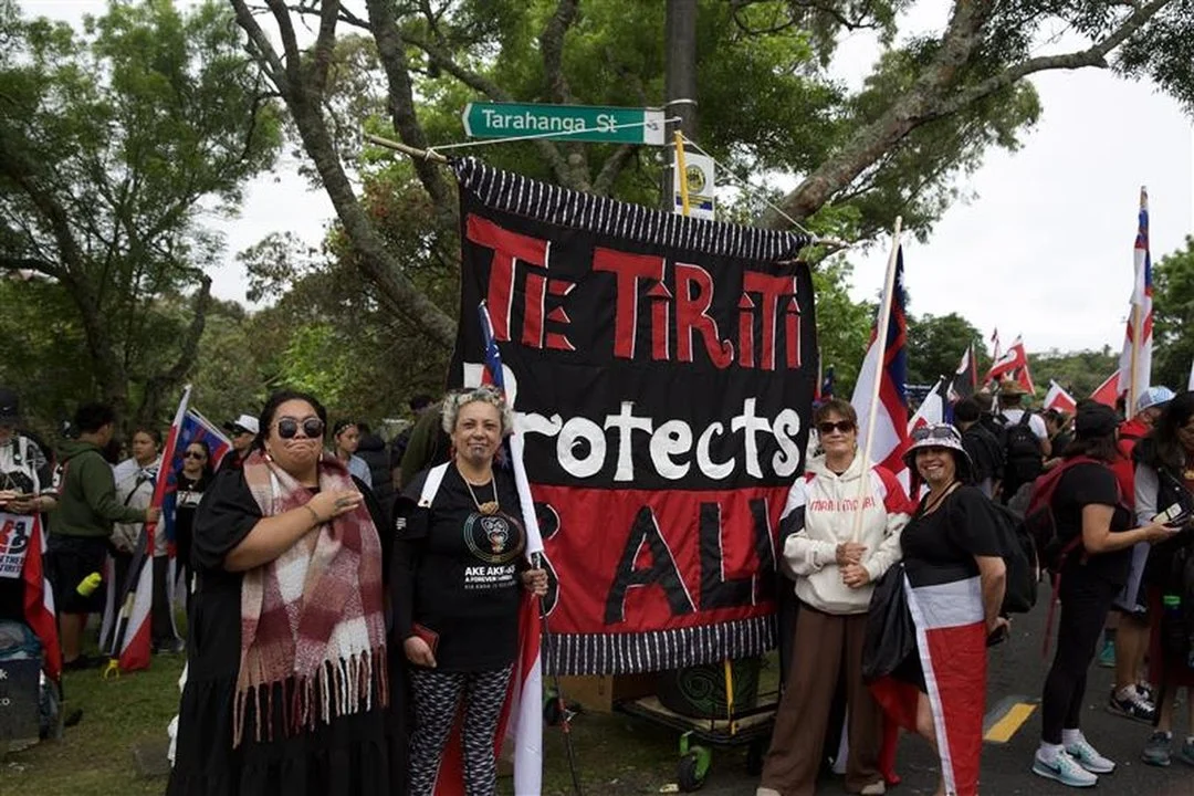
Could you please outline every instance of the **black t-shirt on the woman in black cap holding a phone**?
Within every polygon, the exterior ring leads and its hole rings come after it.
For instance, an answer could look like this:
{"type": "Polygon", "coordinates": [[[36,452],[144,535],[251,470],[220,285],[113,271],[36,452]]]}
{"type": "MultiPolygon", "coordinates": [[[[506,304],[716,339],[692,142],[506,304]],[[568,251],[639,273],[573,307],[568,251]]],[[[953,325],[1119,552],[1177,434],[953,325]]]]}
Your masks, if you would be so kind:
{"type": "MultiPolygon", "coordinates": [[[[1089,505],[1114,506],[1112,533],[1131,530],[1132,512],[1124,507],[1119,482],[1106,464],[1084,462],[1072,465],[1058,481],[1053,493],[1053,522],[1061,539],[1073,539],[1082,535],[1082,508],[1089,505]]],[[[1084,555],[1078,549],[1066,557],[1063,578],[1095,575],[1112,584],[1127,582],[1132,567],[1132,548],[1084,555]]]]}

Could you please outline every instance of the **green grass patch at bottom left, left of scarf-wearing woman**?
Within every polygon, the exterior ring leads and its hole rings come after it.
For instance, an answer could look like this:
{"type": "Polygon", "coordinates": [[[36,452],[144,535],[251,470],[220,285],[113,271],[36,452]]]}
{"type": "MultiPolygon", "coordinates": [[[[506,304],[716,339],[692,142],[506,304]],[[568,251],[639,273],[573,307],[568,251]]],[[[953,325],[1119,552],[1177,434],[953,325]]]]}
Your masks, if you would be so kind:
{"type": "Polygon", "coordinates": [[[4,758],[0,794],[37,796],[160,796],[165,778],[146,779],[133,751],[159,743],[178,711],[181,655],[155,655],[148,671],[100,679],[99,669],[66,674],[63,712],[82,721],[61,741],[48,741],[4,758]]]}

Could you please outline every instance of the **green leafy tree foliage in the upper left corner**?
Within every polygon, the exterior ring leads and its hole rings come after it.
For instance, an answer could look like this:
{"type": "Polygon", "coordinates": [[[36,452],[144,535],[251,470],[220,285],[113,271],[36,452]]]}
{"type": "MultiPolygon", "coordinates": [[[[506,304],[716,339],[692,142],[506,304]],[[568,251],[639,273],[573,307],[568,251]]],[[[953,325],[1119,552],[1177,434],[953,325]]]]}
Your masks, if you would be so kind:
{"type": "Polygon", "coordinates": [[[0,269],[74,304],[98,395],[144,419],[189,370],[221,240],[281,122],[227,7],[113,0],[84,31],[0,5],[0,269]],[[192,306],[184,307],[190,296],[192,306]]]}

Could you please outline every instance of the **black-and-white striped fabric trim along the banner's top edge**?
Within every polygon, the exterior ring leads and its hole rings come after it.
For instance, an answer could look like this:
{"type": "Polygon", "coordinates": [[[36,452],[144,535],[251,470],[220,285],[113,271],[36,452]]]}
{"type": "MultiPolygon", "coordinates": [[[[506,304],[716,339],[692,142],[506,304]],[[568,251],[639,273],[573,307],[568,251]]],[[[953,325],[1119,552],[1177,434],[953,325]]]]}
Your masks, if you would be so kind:
{"type": "Polygon", "coordinates": [[[454,159],[451,167],[461,189],[475,193],[486,206],[556,227],[756,261],[795,259],[812,242],[808,235],[799,233],[691,218],[581,193],[504,172],[472,158],[454,159]]]}

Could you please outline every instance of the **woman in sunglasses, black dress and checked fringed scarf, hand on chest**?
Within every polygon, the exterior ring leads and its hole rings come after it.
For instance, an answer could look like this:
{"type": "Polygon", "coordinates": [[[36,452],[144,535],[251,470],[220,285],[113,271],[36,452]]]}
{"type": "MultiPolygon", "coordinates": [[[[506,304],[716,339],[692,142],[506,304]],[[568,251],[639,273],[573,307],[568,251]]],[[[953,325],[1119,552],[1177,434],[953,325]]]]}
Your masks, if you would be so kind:
{"type": "Polygon", "coordinates": [[[381,512],[275,393],[195,517],[189,678],[168,794],[390,794],[381,512]]]}

